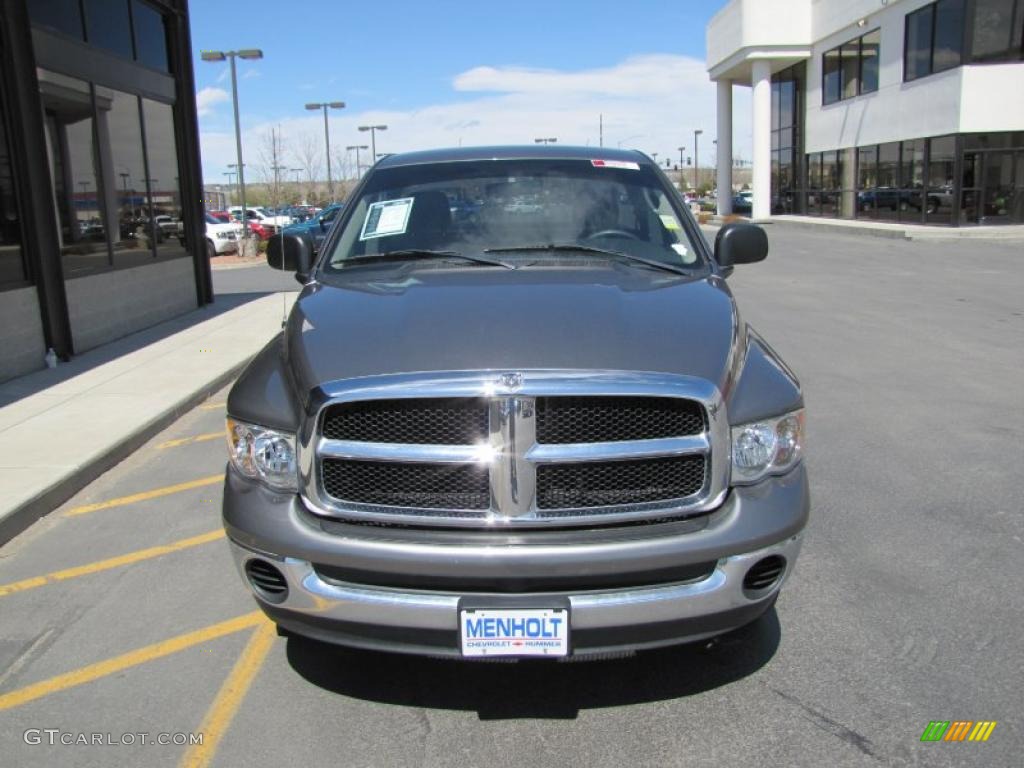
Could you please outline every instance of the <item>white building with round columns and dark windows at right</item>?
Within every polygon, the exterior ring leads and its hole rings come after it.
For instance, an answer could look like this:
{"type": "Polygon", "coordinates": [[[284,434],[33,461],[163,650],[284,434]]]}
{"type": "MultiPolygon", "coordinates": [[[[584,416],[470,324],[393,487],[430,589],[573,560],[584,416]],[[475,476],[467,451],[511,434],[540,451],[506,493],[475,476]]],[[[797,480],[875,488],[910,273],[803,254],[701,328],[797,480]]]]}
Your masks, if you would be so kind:
{"type": "Polygon", "coordinates": [[[753,2],[708,40],[755,91],[755,215],[1024,223],[1024,0],[753,2]]]}

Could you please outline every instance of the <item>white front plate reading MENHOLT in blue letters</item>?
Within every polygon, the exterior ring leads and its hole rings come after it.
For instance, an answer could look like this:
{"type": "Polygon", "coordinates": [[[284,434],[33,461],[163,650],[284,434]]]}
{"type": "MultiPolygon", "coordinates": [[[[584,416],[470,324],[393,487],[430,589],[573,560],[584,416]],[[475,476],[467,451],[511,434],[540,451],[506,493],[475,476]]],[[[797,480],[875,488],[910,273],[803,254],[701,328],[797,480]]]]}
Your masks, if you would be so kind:
{"type": "Polygon", "coordinates": [[[476,608],[459,611],[464,656],[564,656],[569,652],[565,608],[476,608]]]}

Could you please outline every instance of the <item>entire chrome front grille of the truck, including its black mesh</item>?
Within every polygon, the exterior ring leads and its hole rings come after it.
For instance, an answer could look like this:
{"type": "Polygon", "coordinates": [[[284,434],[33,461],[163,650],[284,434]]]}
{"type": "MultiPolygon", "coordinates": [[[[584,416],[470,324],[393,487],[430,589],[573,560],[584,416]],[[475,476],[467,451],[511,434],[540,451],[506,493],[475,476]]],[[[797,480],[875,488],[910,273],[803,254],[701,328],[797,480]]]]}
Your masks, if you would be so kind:
{"type": "Polygon", "coordinates": [[[682,516],[725,494],[710,383],[668,374],[397,375],[314,393],[300,436],[321,514],[430,525],[584,525],[682,516]]]}

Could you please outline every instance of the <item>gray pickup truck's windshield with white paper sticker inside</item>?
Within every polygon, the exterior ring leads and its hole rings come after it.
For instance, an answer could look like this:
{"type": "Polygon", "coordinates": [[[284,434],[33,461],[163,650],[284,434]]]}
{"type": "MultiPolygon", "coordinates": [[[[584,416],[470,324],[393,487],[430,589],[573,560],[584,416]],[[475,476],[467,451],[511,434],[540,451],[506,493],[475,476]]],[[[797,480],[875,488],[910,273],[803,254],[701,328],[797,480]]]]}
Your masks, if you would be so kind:
{"type": "Polygon", "coordinates": [[[698,266],[662,178],[648,166],[612,163],[486,160],[376,170],[346,206],[351,215],[325,269],[395,251],[494,250],[520,265],[617,253],[698,266]]]}

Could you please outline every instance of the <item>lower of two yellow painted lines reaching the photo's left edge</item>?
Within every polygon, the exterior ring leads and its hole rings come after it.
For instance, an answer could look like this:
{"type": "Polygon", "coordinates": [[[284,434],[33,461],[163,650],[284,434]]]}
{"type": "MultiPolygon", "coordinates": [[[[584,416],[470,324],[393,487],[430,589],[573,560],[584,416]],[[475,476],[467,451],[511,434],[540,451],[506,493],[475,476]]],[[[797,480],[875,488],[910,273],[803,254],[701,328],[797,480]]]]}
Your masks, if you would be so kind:
{"type": "Polygon", "coordinates": [[[236,632],[255,627],[264,621],[263,613],[254,610],[252,613],[229,618],[220,624],[210,625],[195,632],[186,632],[183,635],[122,653],[120,656],[114,656],[104,662],[97,662],[87,667],[81,667],[73,672],[51,677],[49,680],[43,680],[42,682],[12,690],[9,693],[0,694],[0,711],[20,707],[24,703],[42,698],[50,693],[56,693],[68,688],[74,688],[77,685],[82,685],[83,683],[89,683],[93,680],[114,675],[130,667],[136,667],[145,662],[152,662],[155,658],[162,658],[171,653],[177,653],[179,650],[190,648],[200,643],[215,640],[225,635],[233,635],[236,632]]]}

